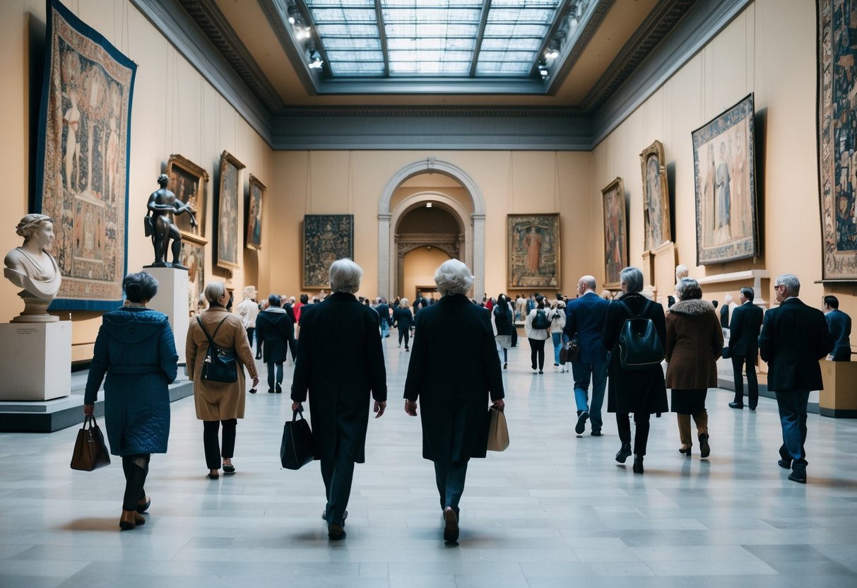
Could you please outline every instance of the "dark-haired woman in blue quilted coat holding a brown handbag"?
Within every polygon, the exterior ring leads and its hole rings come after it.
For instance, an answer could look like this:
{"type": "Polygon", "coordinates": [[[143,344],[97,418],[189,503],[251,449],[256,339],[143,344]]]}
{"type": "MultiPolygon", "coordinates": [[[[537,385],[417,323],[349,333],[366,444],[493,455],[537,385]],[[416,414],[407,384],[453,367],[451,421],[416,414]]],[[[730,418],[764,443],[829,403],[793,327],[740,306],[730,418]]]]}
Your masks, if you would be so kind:
{"type": "Polygon", "coordinates": [[[167,316],[146,308],[158,281],[146,272],[131,273],[122,283],[121,309],[102,317],[89,368],[83,412],[93,414],[105,379],[105,421],[113,455],[122,456],[125,495],[119,528],[142,525],[149,499],[143,484],[149,456],[166,453],[170,435],[170,393],[178,354],[167,316]]]}

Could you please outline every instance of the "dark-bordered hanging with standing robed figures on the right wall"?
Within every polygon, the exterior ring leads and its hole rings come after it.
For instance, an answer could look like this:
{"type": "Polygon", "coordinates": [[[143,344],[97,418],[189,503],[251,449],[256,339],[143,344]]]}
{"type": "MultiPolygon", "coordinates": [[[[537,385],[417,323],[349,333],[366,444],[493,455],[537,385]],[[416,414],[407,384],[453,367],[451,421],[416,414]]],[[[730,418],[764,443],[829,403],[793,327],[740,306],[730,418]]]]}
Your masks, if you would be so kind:
{"type": "Polygon", "coordinates": [[[753,95],[692,132],[697,264],[758,255],[753,95]]]}

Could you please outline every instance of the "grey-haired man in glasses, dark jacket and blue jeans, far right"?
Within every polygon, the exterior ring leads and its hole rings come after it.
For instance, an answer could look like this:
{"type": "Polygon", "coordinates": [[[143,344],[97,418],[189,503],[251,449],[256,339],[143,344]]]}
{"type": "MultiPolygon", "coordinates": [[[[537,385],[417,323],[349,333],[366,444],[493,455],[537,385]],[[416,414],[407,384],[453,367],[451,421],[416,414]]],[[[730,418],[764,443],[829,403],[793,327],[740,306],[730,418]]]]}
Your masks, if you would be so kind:
{"type": "Polygon", "coordinates": [[[833,349],[824,314],[800,301],[800,281],[785,273],[774,282],[779,308],[764,314],[758,338],[768,362],[768,389],[776,392],[782,447],[779,465],[791,468],[788,479],[806,483],[806,403],[811,390],[821,390],[818,360],[833,349]]]}

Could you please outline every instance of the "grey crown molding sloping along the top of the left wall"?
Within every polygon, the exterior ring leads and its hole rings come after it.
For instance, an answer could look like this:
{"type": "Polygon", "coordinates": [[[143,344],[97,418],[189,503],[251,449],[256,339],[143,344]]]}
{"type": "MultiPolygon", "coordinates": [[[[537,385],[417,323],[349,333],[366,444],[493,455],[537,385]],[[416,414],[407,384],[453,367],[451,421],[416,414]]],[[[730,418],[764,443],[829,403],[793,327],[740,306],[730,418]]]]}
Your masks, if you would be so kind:
{"type": "Polygon", "coordinates": [[[131,0],[171,45],[271,145],[272,117],[178,0],[131,0]]]}

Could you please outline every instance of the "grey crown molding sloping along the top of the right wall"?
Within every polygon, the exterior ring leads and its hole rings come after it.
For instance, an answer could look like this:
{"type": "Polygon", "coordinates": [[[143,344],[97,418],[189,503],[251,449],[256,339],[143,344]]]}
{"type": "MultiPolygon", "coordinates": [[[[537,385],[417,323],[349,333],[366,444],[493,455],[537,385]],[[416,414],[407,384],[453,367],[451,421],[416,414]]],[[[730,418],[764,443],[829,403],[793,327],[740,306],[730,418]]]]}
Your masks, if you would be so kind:
{"type": "Polygon", "coordinates": [[[663,39],[627,81],[592,117],[595,148],[682,66],[714,39],[753,0],[696,0],[674,31],[663,39]]]}

